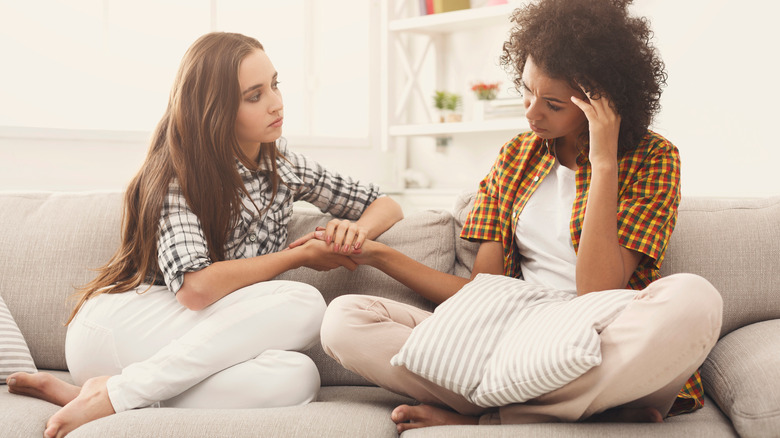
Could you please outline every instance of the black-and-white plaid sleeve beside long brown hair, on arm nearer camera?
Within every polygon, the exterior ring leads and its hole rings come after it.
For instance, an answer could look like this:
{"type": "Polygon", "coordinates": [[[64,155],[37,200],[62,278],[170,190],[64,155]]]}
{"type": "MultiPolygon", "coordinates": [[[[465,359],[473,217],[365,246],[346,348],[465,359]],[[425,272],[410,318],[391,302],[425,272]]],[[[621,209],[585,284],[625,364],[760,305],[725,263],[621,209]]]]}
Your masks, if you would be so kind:
{"type": "Polygon", "coordinates": [[[165,284],[176,293],[184,283],[184,273],[211,264],[206,236],[200,220],[187,206],[181,189],[172,185],[160,216],[157,260],[165,284]]]}

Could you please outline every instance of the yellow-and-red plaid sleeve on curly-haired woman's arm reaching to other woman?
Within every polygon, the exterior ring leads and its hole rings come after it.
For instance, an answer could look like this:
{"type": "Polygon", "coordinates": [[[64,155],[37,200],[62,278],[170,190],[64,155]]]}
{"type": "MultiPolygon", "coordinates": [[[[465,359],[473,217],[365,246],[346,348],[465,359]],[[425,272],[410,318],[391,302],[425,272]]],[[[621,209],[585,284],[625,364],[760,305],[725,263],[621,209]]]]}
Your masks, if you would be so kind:
{"type": "Polygon", "coordinates": [[[501,241],[501,215],[500,215],[500,185],[502,184],[501,175],[505,166],[504,154],[506,145],[501,148],[501,152],[493,164],[490,173],[479,183],[474,207],[471,209],[460,237],[470,241],[501,241]]]}

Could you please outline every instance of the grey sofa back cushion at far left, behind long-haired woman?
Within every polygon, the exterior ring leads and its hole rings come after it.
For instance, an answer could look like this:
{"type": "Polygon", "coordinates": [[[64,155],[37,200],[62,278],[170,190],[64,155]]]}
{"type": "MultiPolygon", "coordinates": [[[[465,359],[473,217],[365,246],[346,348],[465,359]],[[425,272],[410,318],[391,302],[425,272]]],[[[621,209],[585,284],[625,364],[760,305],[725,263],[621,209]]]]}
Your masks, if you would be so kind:
{"type": "Polygon", "coordinates": [[[121,204],[119,192],[0,196],[0,294],[38,368],[67,369],[68,298],[118,247],[121,204]]]}

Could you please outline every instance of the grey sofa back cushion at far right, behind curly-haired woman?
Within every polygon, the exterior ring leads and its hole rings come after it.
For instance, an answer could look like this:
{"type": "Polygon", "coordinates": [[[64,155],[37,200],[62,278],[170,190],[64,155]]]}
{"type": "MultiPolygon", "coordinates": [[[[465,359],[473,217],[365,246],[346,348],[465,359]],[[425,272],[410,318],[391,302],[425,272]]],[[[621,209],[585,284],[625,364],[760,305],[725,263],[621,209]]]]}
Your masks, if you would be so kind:
{"type": "Polygon", "coordinates": [[[664,276],[691,272],[723,296],[721,335],[780,318],[780,197],[683,198],[664,276]]]}

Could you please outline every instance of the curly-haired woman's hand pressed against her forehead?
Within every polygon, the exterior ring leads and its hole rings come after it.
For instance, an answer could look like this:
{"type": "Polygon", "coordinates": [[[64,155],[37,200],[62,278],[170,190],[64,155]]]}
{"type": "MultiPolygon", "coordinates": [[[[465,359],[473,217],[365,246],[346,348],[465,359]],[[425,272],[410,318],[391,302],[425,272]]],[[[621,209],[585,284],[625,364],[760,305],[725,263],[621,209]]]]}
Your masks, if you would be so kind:
{"type": "MultiPolygon", "coordinates": [[[[580,87],[582,88],[582,87],[580,87]]],[[[620,114],[615,111],[612,101],[602,94],[598,99],[588,97],[588,101],[571,97],[571,101],[577,105],[588,119],[590,130],[590,154],[591,165],[607,163],[614,165],[617,162],[618,136],[620,134],[620,114]]]]}

